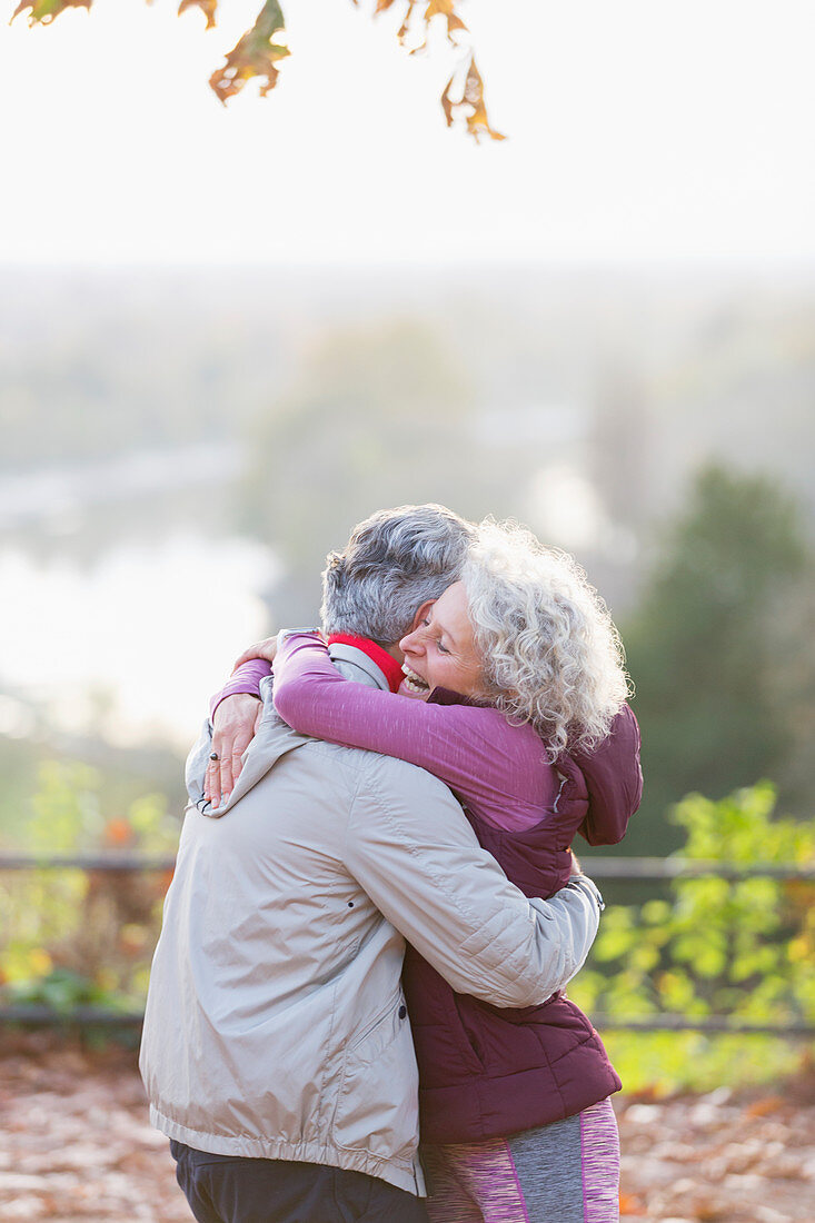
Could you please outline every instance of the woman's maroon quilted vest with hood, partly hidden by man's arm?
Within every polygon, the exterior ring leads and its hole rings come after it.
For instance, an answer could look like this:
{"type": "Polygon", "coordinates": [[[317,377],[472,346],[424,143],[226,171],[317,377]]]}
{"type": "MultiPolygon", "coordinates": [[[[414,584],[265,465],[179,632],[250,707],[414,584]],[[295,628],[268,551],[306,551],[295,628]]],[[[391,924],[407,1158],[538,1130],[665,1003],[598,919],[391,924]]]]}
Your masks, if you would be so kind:
{"type": "MultiPolygon", "coordinates": [[[[576,832],[592,845],[624,835],[642,784],[630,709],[594,756],[558,768],[565,781],[557,812],[534,828],[507,832],[466,812],[481,844],[529,896],[549,896],[568,881],[576,832]]],[[[523,1010],[489,1007],[454,993],[412,948],[403,982],[426,1142],[477,1142],[547,1125],[620,1088],[597,1032],[563,993],[523,1010]]]]}

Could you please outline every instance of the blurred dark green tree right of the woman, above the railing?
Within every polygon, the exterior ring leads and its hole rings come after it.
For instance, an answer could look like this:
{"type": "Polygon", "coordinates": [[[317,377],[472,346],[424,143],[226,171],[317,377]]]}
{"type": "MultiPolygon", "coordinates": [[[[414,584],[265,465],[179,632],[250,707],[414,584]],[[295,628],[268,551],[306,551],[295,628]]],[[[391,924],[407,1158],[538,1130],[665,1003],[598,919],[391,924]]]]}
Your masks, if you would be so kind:
{"type": "Polygon", "coordinates": [[[674,849],[666,811],[690,790],[720,799],[771,777],[811,815],[814,578],[800,509],[775,481],[702,468],[620,625],[646,778],[627,852],[674,849]]]}

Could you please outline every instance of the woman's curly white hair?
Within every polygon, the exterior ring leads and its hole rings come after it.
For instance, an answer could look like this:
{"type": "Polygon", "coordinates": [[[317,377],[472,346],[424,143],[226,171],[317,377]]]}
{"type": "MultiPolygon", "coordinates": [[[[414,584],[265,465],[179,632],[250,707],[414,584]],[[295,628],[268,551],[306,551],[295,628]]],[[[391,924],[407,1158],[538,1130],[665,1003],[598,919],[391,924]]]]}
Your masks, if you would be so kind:
{"type": "Polygon", "coordinates": [[[516,522],[486,519],[461,574],[486,696],[531,722],[549,759],[587,751],[629,696],[623,646],[584,570],[516,522]]]}

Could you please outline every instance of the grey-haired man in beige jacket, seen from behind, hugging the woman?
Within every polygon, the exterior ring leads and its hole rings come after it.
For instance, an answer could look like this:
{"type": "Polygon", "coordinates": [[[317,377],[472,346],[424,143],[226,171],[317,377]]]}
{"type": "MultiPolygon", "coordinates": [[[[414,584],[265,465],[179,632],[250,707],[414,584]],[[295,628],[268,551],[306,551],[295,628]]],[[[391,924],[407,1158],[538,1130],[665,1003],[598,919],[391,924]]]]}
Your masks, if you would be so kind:
{"type": "MultiPolygon", "coordinates": [[[[388,647],[335,646],[349,678],[388,687],[393,643],[470,533],[404,506],[329,556],[324,627],[388,647]]],[[[199,1223],[422,1223],[405,939],[459,992],[537,1004],[584,963],[598,893],[578,878],[527,900],[439,780],[296,734],[269,689],[215,810],[209,724],[187,762],[141,1054],[151,1119],[199,1223]]]]}

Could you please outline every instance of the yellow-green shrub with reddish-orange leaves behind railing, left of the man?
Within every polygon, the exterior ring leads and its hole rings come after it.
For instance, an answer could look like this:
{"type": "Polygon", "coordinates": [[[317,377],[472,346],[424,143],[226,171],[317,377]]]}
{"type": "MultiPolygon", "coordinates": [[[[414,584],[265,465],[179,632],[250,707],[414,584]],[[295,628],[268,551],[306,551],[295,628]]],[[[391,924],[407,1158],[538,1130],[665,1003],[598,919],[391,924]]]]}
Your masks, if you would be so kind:
{"type": "MultiPolygon", "coordinates": [[[[159,795],[106,816],[99,774],[47,763],[26,848],[43,859],[102,850],[173,854],[177,822],[159,795]]],[[[158,937],[166,873],[60,868],[0,873],[0,989],[5,1004],[138,1007],[158,937]]]]}

